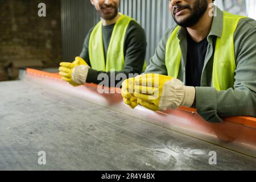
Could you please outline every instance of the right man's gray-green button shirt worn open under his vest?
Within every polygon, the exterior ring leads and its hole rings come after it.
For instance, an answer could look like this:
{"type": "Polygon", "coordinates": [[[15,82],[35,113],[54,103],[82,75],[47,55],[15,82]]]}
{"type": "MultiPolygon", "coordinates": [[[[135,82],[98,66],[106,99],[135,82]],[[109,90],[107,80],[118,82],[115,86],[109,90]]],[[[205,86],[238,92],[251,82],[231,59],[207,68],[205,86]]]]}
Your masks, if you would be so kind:
{"type": "MultiPolygon", "coordinates": [[[[212,86],[213,56],[217,36],[221,37],[223,12],[217,8],[212,28],[208,35],[208,49],[205,56],[201,86],[196,87],[197,112],[209,122],[221,122],[222,117],[238,115],[256,117],[256,21],[241,19],[234,33],[234,53],[237,69],[235,71],[234,89],[217,91],[212,86]]],[[[176,27],[176,26],[175,26],[176,27]]],[[[167,30],[155,55],[150,60],[146,73],[168,75],[165,65],[166,43],[175,27],[167,30]]],[[[179,80],[185,83],[187,61],[187,30],[178,32],[182,52],[179,80]]]]}

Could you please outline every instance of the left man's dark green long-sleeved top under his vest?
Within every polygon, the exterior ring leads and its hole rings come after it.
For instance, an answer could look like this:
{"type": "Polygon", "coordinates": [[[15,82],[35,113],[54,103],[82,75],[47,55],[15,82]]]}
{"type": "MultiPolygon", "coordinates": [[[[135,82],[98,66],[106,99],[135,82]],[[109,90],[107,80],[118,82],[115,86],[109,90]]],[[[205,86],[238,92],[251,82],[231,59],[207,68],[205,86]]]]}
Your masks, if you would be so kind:
{"type": "MultiPolygon", "coordinates": [[[[102,38],[104,43],[104,55],[108,52],[108,47],[110,43],[110,39],[112,36],[112,32],[114,29],[114,25],[109,26],[102,26],[102,38]]],[[[94,27],[93,27],[94,28],[94,27]]],[[[88,35],[85,38],[84,45],[82,48],[82,52],[80,57],[90,65],[89,59],[89,38],[93,28],[89,31],[88,35]]],[[[124,55],[125,55],[125,68],[122,71],[114,72],[114,76],[118,73],[124,73],[126,77],[129,77],[129,73],[138,73],[141,74],[143,69],[143,64],[146,56],[146,34],[143,28],[135,21],[131,21],[129,26],[126,30],[125,36],[125,45],[124,45],[124,55]]],[[[105,60],[106,61],[106,60],[105,60]]],[[[121,61],[121,60],[120,60],[121,61]]],[[[113,77],[113,73],[111,72],[103,72],[103,71],[96,71],[94,69],[89,69],[88,76],[86,82],[100,84],[102,80],[98,80],[98,75],[101,73],[106,73],[108,77],[113,77]]],[[[120,80],[115,80],[114,85],[109,86],[114,87],[120,80]]]]}

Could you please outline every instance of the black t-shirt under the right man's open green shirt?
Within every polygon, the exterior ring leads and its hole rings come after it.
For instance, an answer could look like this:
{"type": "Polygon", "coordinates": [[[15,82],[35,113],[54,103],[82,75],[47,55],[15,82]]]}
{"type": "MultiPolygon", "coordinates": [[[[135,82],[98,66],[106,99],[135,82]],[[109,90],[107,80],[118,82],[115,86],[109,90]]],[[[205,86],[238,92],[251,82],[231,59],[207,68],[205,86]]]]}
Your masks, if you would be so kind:
{"type": "Polygon", "coordinates": [[[201,86],[201,76],[208,47],[207,37],[198,43],[195,42],[189,34],[187,37],[188,52],[186,65],[186,85],[201,86]]]}

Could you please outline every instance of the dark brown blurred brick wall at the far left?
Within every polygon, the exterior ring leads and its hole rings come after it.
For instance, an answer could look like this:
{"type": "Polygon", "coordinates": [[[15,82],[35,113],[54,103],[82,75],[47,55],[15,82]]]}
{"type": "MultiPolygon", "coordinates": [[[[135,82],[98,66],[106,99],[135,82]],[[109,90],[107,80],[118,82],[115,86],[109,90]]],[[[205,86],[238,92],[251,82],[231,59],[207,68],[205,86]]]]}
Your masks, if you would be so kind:
{"type": "Polygon", "coordinates": [[[60,0],[0,0],[0,80],[20,67],[56,67],[61,59],[60,0]],[[46,17],[38,4],[46,4],[46,17]]]}

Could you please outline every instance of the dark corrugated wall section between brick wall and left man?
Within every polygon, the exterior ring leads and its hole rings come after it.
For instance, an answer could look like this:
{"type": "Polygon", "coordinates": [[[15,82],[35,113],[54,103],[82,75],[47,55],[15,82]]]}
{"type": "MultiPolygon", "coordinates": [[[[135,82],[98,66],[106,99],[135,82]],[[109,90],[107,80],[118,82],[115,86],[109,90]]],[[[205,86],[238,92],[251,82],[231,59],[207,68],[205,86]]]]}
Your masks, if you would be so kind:
{"type": "Polygon", "coordinates": [[[93,6],[89,0],[61,0],[63,61],[72,61],[80,55],[84,39],[92,27],[93,6]]]}

